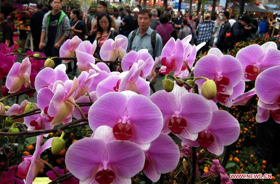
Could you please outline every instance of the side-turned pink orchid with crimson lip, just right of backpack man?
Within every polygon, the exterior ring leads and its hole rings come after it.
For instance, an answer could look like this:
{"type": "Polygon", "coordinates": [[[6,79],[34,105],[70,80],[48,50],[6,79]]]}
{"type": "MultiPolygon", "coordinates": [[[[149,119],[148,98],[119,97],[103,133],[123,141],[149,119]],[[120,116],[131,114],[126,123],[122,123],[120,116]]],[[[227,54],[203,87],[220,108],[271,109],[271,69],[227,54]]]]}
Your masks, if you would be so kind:
{"type": "Polygon", "coordinates": [[[168,40],[161,52],[161,69],[160,73],[169,74],[175,70],[175,75],[178,75],[181,71],[184,61],[184,45],[180,39],[173,37],[168,40]]]}

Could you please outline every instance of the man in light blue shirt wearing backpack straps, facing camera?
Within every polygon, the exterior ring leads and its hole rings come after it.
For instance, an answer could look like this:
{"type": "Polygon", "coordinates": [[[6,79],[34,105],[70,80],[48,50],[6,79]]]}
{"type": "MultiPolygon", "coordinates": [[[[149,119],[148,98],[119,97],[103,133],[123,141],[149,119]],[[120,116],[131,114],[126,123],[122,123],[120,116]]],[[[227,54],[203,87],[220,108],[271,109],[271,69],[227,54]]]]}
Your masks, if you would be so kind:
{"type": "Polygon", "coordinates": [[[139,28],[128,35],[127,52],[131,50],[138,52],[146,48],[154,59],[159,57],[162,51],[162,39],[155,30],[150,28],[151,12],[147,9],[141,9],[137,20],[139,28]]]}

